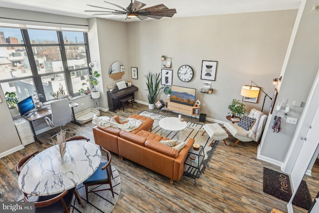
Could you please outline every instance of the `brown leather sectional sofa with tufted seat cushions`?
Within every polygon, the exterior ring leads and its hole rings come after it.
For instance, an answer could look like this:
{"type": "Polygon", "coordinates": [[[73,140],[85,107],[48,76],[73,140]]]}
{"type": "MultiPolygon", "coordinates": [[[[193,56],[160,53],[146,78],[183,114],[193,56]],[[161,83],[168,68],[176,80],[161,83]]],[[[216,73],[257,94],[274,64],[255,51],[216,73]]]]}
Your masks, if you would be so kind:
{"type": "MultiPolygon", "coordinates": [[[[144,122],[138,129],[131,132],[97,125],[93,127],[95,143],[118,154],[120,158],[127,158],[168,177],[170,183],[179,181],[184,172],[185,158],[194,139],[189,139],[178,153],[176,149],[158,143],[170,139],[148,132],[153,127],[152,119],[140,115],[130,117],[144,120],[144,122]]],[[[115,120],[119,122],[119,117],[115,116],[115,120]]]]}

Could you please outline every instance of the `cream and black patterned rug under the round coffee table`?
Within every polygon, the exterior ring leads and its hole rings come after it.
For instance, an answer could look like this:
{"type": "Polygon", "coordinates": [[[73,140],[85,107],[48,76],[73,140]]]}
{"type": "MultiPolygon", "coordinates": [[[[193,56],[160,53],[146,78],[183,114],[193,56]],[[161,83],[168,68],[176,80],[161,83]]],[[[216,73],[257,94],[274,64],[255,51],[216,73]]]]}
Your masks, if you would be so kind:
{"type": "MultiPolygon", "coordinates": [[[[152,118],[154,120],[152,133],[160,135],[161,128],[159,126],[159,121],[160,121],[160,119],[165,118],[167,116],[161,115],[158,113],[154,113],[154,112],[150,112],[150,111],[143,111],[140,113],[140,115],[152,118]]],[[[202,133],[204,132],[204,129],[203,129],[204,125],[198,124],[195,122],[188,122],[188,121],[185,121],[185,122],[187,123],[187,127],[184,130],[179,131],[179,139],[178,140],[181,142],[184,142],[184,141],[187,141],[189,138],[193,138],[195,140],[195,143],[204,147],[205,157],[204,157],[202,166],[197,174],[197,178],[198,178],[205,171],[205,168],[208,165],[209,160],[210,160],[211,156],[213,155],[213,152],[214,152],[215,147],[218,144],[218,142],[215,142],[211,146],[208,146],[211,139],[209,138],[207,133],[205,133],[202,136],[202,133]]],[[[172,131],[163,132],[161,136],[177,140],[176,134],[172,131]]]]}

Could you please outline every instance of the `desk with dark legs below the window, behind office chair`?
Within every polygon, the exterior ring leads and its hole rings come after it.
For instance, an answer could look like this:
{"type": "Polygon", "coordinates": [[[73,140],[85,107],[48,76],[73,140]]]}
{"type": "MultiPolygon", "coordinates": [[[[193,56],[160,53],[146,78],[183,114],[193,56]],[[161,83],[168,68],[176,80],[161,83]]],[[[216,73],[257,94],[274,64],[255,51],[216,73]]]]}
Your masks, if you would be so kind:
{"type": "MultiPolygon", "coordinates": [[[[82,124],[78,123],[75,120],[75,113],[74,113],[73,107],[77,107],[78,105],[79,104],[73,103],[73,102],[69,103],[69,106],[72,109],[72,116],[73,116],[73,120],[71,122],[75,123],[75,124],[77,124],[79,126],[82,126],[82,124]]],[[[36,133],[35,133],[32,121],[44,118],[45,116],[48,116],[48,115],[51,115],[51,110],[49,108],[44,108],[44,109],[40,109],[40,110],[34,111],[34,114],[31,115],[30,117],[23,116],[23,118],[25,118],[26,120],[29,121],[31,130],[32,130],[32,133],[33,133],[34,141],[36,141],[36,142],[38,142],[40,144],[42,144],[42,142],[36,137],[36,133]]]]}

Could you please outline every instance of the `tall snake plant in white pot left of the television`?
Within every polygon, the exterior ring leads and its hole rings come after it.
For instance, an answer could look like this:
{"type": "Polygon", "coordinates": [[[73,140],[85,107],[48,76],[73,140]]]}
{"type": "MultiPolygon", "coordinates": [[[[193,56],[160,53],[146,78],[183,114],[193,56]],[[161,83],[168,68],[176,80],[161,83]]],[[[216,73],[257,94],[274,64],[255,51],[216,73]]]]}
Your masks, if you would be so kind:
{"type": "Polygon", "coordinates": [[[149,94],[147,95],[148,99],[149,99],[149,109],[154,109],[154,103],[156,98],[158,97],[160,90],[163,87],[159,88],[160,85],[160,73],[151,73],[149,72],[147,75],[144,75],[147,79],[146,81],[146,85],[148,87],[149,90],[149,94]]]}

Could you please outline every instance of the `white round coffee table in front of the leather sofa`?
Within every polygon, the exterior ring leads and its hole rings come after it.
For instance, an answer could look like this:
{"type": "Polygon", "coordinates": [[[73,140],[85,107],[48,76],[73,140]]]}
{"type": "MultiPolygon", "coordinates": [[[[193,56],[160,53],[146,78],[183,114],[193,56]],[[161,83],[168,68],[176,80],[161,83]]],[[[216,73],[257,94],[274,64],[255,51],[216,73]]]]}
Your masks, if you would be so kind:
{"type": "Polygon", "coordinates": [[[160,120],[159,125],[161,128],[160,135],[163,130],[173,131],[176,134],[177,139],[179,139],[179,131],[185,129],[187,123],[186,121],[179,121],[176,117],[166,117],[160,120]]]}

